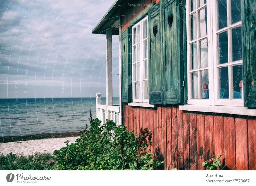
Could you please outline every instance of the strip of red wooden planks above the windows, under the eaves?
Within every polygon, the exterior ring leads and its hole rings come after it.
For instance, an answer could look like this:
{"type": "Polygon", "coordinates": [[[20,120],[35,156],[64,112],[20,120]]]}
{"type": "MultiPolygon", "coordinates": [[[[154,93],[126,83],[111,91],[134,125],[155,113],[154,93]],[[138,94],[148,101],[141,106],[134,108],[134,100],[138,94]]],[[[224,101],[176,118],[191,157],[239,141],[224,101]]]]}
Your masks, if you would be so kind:
{"type": "Polygon", "coordinates": [[[122,31],[125,30],[129,26],[129,22],[135,18],[141,11],[143,11],[149,4],[151,4],[153,1],[158,3],[160,0],[138,0],[135,1],[135,4],[139,4],[139,6],[130,6],[124,12],[124,14],[121,16],[121,22],[122,22],[122,31]]]}

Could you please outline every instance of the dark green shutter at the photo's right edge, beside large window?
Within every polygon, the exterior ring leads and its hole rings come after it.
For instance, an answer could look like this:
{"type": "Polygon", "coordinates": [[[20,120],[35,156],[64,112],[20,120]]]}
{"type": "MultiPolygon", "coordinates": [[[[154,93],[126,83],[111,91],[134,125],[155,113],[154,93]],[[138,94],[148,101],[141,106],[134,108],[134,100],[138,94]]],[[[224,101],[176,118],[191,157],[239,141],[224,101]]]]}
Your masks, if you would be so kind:
{"type": "Polygon", "coordinates": [[[241,1],[244,106],[256,108],[256,1],[241,1]]]}

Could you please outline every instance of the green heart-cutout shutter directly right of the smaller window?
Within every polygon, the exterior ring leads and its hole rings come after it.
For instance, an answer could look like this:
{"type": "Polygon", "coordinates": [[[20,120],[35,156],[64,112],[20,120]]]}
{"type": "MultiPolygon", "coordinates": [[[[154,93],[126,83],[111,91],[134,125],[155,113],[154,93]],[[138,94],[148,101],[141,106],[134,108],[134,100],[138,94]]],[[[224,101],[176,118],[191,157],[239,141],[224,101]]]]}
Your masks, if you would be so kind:
{"type": "Polygon", "coordinates": [[[149,103],[163,104],[162,26],[160,3],[149,9],[149,103]]]}

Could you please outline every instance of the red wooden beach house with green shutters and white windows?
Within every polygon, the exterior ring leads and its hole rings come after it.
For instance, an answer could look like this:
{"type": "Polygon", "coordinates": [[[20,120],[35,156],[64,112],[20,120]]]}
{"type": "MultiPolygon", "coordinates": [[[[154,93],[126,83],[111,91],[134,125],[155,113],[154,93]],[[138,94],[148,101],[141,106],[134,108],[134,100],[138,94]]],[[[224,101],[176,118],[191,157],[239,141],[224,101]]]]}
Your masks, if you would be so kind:
{"type": "Polygon", "coordinates": [[[106,35],[106,105],[97,117],[153,133],[164,169],[256,170],[256,1],[116,0],[92,30],[106,35]],[[120,105],[112,103],[119,35],[120,105]]]}

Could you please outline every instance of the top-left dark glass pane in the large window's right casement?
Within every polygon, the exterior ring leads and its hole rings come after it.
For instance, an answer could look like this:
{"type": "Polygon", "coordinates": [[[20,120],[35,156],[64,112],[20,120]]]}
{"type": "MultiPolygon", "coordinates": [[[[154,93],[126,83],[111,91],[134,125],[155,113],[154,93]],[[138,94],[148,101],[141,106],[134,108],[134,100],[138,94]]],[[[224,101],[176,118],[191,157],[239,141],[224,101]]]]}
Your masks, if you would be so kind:
{"type": "Polygon", "coordinates": [[[227,0],[218,0],[217,4],[218,29],[221,29],[227,27],[227,0]]]}

